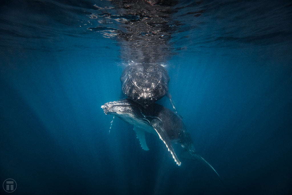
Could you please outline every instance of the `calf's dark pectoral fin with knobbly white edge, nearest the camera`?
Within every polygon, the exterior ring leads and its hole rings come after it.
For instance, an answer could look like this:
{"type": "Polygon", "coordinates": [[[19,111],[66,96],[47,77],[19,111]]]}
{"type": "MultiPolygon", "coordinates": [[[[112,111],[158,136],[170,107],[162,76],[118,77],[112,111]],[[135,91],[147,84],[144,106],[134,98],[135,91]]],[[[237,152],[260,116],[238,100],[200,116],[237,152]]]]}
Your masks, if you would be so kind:
{"type": "MultiPolygon", "coordinates": [[[[153,120],[154,121],[154,120],[153,120]]],[[[151,122],[152,127],[154,128],[154,130],[157,132],[157,134],[159,135],[159,138],[163,141],[163,143],[166,145],[168,151],[171,153],[172,158],[174,159],[174,161],[176,162],[176,164],[178,166],[180,166],[181,162],[178,159],[178,157],[176,156],[173,147],[171,145],[171,141],[166,133],[166,131],[157,123],[157,122],[151,122]]]]}

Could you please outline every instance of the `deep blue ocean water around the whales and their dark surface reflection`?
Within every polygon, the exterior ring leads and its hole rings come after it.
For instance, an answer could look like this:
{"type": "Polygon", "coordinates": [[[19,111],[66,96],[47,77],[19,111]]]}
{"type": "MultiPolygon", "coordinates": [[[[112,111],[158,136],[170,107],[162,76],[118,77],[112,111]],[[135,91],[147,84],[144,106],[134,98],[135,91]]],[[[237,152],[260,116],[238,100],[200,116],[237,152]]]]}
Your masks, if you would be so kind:
{"type": "Polygon", "coordinates": [[[291,2],[172,9],[169,91],[223,184],[199,161],[177,166],[153,135],[142,150],[118,118],[109,129],[100,106],[121,98],[128,56],[117,37],[134,16],[81,0],[0,3],[1,184],[15,180],[12,194],[292,193],[291,2]]]}

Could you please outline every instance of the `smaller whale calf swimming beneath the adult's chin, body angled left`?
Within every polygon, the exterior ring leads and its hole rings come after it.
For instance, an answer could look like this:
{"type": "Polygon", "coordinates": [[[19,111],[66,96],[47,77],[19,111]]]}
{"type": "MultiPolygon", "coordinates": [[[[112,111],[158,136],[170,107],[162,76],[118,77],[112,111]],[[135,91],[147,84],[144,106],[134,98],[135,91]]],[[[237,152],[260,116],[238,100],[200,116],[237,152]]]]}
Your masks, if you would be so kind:
{"type": "Polygon", "coordinates": [[[149,150],[145,141],[145,131],[158,135],[178,166],[181,162],[173,149],[172,142],[180,144],[192,158],[204,161],[220,179],[217,171],[195,151],[190,134],[177,113],[157,103],[153,103],[145,109],[130,99],[108,102],[101,108],[105,114],[116,115],[132,124],[142,149],[149,150]]]}

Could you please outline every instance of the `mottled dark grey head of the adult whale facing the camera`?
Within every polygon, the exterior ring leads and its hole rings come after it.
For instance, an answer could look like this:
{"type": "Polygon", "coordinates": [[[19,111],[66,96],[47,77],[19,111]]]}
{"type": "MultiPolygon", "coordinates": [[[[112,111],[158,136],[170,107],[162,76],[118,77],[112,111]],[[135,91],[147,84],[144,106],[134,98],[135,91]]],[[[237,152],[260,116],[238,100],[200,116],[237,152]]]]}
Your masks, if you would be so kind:
{"type": "Polygon", "coordinates": [[[134,63],[128,65],[122,75],[123,93],[131,100],[147,108],[168,92],[167,70],[156,63],[134,63]]]}

